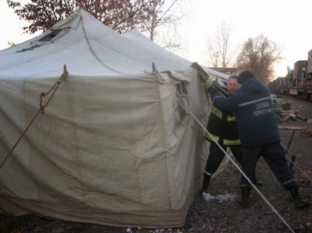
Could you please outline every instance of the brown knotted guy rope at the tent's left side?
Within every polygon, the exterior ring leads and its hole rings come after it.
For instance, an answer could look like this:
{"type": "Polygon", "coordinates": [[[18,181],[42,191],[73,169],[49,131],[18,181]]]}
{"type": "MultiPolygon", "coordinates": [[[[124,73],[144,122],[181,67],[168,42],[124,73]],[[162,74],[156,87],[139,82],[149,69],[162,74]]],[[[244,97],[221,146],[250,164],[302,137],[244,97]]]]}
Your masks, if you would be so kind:
{"type": "Polygon", "coordinates": [[[64,65],[64,72],[62,73],[62,75],[59,77],[59,79],[57,80],[57,82],[52,86],[52,88],[48,91],[48,92],[42,92],[40,93],[40,109],[38,109],[37,113],[35,113],[35,115],[33,116],[33,119],[31,120],[31,122],[29,122],[28,126],[26,127],[26,129],[23,131],[23,133],[21,133],[21,136],[19,136],[19,139],[17,140],[17,142],[15,142],[15,145],[12,147],[12,149],[10,150],[10,152],[8,153],[8,155],[6,156],[6,158],[4,158],[3,162],[1,162],[0,165],[0,169],[1,167],[4,165],[4,163],[6,162],[6,160],[8,160],[9,156],[12,154],[12,151],[15,149],[15,147],[17,147],[17,145],[19,144],[19,141],[21,140],[21,138],[23,138],[23,136],[25,135],[26,131],[29,129],[29,127],[31,127],[31,124],[33,124],[35,118],[37,118],[37,115],[39,115],[39,113],[44,113],[44,109],[46,108],[46,106],[48,106],[51,98],[53,97],[55,91],[58,89],[58,86],[60,86],[60,84],[62,83],[62,80],[67,77],[68,72],[67,72],[67,67],[66,65],[64,65]],[[49,95],[49,93],[52,91],[52,95],[49,97],[49,100],[47,100],[47,96],[49,95]],[[47,101],[46,101],[47,100],[47,101]]]}

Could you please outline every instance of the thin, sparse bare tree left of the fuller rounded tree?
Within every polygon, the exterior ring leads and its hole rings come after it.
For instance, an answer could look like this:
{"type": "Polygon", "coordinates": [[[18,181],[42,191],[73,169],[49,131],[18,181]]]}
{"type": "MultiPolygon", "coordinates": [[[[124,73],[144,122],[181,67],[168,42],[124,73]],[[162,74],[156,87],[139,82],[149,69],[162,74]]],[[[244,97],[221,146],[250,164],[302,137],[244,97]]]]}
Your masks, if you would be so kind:
{"type": "Polygon", "coordinates": [[[237,52],[239,47],[231,44],[231,36],[231,26],[223,22],[216,33],[216,39],[208,40],[208,54],[214,67],[218,67],[220,61],[222,67],[226,68],[237,52]]]}

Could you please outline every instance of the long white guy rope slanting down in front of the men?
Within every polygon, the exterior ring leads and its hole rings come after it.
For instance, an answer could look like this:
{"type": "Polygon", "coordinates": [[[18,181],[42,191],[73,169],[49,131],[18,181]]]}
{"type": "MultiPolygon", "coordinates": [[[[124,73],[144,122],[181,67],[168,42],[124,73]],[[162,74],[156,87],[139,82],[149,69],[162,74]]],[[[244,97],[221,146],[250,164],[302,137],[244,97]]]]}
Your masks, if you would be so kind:
{"type": "MultiPolygon", "coordinates": [[[[169,88],[173,87],[168,84],[167,82],[164,82],[169,88]]],[[[173,91],[175,92],[175,94],[179,97],[181,97],[180,93],[178,93],[177,91],[175,91],[173,89],[173,91]]],[[[176,97],[177,101],[179,102],[179,104],[182,106],[182,109],[184,109],[184,111],[187,111],[184,104],[181,104],[181,102],[179,101],[179,99],[176,97]]],[[[198,124],[200,125],[200,127],[202,127],[202,129],[205,131],[205,133],[208,133],[209,136],[211,136],[211,134],[207,131],[207,129],[202,125],[202,123],[200,122],[200,120],[198,120],[198,118],[196,118],[196,115],[193,114],[193,112],[188,109],[189,114],[196,120],[196,122],[198,122],[198,124]]],[[[213,138],[213,137],[211,137],[213,138]]],[[[225,153],[225,155],[227,156],[227,158],[229,158],[229,160],[231,160],[231,162],[233,163],[233,165],[241,172],[241,174],[246,178],[246,180],[248,180],[248,182],[250,183],[250,185],[252,185],[252,187],[257,191],[257,193],[261,196],[261,198],[263,198],[263,200],[268,204],[268,206],[270,206],[270,208],[273,210],[273,212],[275,212],[275,214],[277,214],[277,216],[279,216],[279,218],[281,219],[281,221],[288,227],[289,230],[291,230],[291,232],[295,233],[293,231],[293,229],[291,228],[290,225],[288,225],[288,223],[285,221],[285,219],[281,216],[281,214],[279,214],[279,212],[277,212],[277,210],[275,209],[275,207],[273,207],[270,202],[266,199],[265,196],[263,196],[263,194],[261,194],[261,192],[259,191],[259,189],[257,189],[257,187],[251,182],[251,180],[244,174],[244,172],[241,170],[241,168],[239,167],[239,165],[236,164],[236,162],[234,162],[234,160],[231,158],[231,156],[229,156],[229,154],[218,144],[218,142],[213,138],[214,142],[216,143],[216,145],[218,145],[218,147],[220,147],[220,149],[223,151],[223,153],[225,153]]]]}

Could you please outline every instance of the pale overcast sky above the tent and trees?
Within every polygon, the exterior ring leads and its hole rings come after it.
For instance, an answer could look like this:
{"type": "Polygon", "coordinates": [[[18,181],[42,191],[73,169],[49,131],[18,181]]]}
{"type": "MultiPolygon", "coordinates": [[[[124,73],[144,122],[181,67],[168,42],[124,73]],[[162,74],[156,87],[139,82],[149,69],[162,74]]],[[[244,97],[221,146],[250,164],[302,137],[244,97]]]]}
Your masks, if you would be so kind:
{"type": "MultiPolygon", "coordinates": [[[[276,77],[285,76],[287,66],[293,68],[298,60],[308,59],[312,49],[312,0],[183,1],[182,8],[188,15],[180,26],[184,50],[179,55],[192,62],[207,64],[207,39],[214,39],[222,22],[232,28],[231,44],[243,44],[249,37],[263,34],[283,48],[284,60],[275,66],[276,77]]],[[[5,0],[0,0],[0,50],[8,47],[8,41],[19,44],[34,37],[23,34],[21,27],[26,25],[5,0]]]]}

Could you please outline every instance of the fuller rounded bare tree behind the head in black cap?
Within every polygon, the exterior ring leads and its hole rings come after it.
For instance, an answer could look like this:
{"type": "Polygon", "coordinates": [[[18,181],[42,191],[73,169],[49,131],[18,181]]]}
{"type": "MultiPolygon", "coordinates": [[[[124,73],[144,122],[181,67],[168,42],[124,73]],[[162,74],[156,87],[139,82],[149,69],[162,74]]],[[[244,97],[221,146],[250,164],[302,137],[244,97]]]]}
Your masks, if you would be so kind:
{"type": "Polygon", "coordinates": [[[264,35],[249,38],[237,57],[237,68],[251,71],[266,84],[274,72],[273,65],[283,59],[281,52],[281,48],[264,35]]]}

